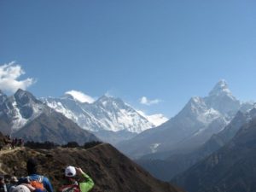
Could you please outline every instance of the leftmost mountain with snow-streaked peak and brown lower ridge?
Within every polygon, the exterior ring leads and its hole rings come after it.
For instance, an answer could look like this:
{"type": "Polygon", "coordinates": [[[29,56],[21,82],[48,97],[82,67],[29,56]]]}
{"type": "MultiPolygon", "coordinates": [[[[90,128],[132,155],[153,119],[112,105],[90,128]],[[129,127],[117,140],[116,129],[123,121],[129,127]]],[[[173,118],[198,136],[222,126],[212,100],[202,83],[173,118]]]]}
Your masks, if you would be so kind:
{"type": "Polygon", "coordinates": [[[84,144],[98,140],[25,90],[17,90],[14,96],[0,93],[0,125],[4,134],[38,142],[84,144]]]}

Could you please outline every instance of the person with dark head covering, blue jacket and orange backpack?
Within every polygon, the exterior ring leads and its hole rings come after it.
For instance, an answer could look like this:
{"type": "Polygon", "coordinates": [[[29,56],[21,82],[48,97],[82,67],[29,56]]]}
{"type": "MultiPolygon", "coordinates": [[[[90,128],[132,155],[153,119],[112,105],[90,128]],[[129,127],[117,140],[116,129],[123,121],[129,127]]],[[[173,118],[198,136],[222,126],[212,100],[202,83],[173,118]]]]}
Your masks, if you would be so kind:
{"type": "Polygon", "coordinates": [[[36,189],[44,190],[48,192],[54,192],[48,177],[38,174],[38,161],[36,159],[29,159],[26,162],[27,177],[20,177],[20,183],[30,183],[32,187],[36,189]]]}

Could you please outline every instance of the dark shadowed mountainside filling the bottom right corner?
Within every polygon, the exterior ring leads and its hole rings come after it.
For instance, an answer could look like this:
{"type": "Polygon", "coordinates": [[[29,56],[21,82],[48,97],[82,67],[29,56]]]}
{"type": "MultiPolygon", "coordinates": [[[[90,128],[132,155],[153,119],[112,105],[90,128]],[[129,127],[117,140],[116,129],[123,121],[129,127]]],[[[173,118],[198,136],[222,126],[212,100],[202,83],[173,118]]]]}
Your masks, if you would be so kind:
{"type": "Polygon", "coordinates": [[[189,168],[175,182],[189,192],[256,191],[256,109],[231,141],[189,168]],[[251,119],[252,118],[252,119],[251,119]]]}

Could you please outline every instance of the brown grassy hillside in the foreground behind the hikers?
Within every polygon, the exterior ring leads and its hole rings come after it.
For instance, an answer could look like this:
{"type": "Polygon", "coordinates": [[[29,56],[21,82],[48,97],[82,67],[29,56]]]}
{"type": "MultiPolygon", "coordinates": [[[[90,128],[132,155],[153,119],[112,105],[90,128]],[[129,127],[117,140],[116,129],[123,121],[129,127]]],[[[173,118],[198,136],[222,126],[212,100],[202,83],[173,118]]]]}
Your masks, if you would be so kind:
{"type": "Polygon", "coordinates": [[[67,165],[80,166],[95,181],[94,192],[182,192],[168,183],[160,182],[109,144],[94,148],[22,148],[1,156],[1,172],[26,175],[26,160],[37,157],[39,172],[47,175],[58,189],[67,165]]]}

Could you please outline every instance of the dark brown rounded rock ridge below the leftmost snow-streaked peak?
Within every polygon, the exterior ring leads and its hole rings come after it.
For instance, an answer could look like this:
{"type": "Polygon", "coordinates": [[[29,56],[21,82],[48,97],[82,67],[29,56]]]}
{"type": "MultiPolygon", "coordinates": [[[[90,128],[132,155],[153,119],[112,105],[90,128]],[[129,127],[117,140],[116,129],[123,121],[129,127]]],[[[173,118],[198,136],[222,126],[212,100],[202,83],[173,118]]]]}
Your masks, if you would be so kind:
{"type": "Polygon", "coordinates": [[[26,141],[42,143],[48,141],[58,144],[77,142],[83,145],[84,143],[98,141],[93,134],[81,129],[72,120],[56,112],[42,113],[37,119],[32,120],[32,122],[15,132],[14,137],[22,137],[26,141]]]}

